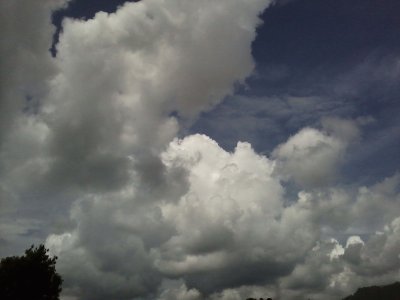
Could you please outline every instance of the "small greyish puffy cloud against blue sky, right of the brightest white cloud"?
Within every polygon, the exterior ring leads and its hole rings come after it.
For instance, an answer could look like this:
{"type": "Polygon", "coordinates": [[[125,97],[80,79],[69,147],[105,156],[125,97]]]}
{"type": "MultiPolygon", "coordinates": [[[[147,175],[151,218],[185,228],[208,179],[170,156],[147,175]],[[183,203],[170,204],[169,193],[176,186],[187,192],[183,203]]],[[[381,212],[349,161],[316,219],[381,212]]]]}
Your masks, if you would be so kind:
{"type": "Polygon", "coordinates": [[[325,118],[323,130],[304,128],[272,153],[278,172],[301,187],[331,183],[343,162],[349,144],[359,137],[356,122],[325,118]]]}

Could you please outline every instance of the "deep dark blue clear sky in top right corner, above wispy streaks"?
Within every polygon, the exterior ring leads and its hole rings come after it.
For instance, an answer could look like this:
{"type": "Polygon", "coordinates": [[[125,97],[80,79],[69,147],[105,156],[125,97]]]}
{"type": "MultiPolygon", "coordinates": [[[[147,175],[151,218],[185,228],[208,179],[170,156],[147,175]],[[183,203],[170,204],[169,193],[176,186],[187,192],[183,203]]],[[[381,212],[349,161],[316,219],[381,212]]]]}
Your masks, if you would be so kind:
{"type": "Polygon", "coordinates": [[[272,84],[259,92],[309,89],[366,59],[398,53],[399,15],[397,0],[298,0],[267,9],[253,54],[272,84]]]}

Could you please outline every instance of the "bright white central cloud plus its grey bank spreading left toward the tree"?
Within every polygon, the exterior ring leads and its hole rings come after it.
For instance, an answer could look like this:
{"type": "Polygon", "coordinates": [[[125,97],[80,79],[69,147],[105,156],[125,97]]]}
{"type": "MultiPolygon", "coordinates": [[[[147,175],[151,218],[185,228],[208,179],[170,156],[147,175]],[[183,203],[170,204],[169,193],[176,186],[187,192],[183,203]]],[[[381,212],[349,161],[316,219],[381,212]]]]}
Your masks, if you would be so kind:
{"type": "Polygon", "coordinates": [[[167,170],[186,171],[187,189],[179,198],[142,202],[140,186],[89,197],[73,211],[77,230],[48,238],[67,282],[89,291],[102,282],[106,298],[121,291],[147,294],[162,278],[182,278],[208,295],[273,282],[314,244],[318,230],[308,222],[310,213],[283,207],[273,163],[250,145],[239,143],[228,153],[205,136],[189,136],[172,142],[162,160],[167,170]],[[125,280],[115,285],[111,275],[125,280]]]}

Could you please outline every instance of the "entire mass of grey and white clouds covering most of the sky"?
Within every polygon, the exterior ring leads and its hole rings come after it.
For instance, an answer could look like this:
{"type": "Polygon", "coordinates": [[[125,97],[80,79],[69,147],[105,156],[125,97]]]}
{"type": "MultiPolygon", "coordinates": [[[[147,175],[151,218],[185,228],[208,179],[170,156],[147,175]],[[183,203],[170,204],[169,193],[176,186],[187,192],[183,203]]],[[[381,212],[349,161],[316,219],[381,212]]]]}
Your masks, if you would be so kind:
{"type": "MultiPolygon", "coordinates": [[[[45,241],[63,299],[329,300],[398,280],[399,174],[337,184],[376,120],[321,114],[269,153],[185,134],[253,74],[271,2],[126,3],[65,19],[53,58],[67,1],[3,1],[0,254],[45,241]]],[[[326,103],[262,107],[309,99],[326,103]]],[[[251,135],[246,110],[232,126],[251,135]]]]}

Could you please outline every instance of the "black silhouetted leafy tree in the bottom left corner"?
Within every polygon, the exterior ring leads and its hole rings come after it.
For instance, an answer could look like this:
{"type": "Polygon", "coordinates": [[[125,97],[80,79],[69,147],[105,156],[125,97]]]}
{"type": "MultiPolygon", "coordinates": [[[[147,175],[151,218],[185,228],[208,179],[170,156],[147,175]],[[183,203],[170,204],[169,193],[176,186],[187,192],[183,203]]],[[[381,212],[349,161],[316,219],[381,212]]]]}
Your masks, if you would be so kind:
{"type": "Polygon", "coordinates": [[[56,272],[57,257],[50,257],[44,245],[25,250],[25,255],[0,261],[1,300],[58,300],[61,276],[56,272]]]}

